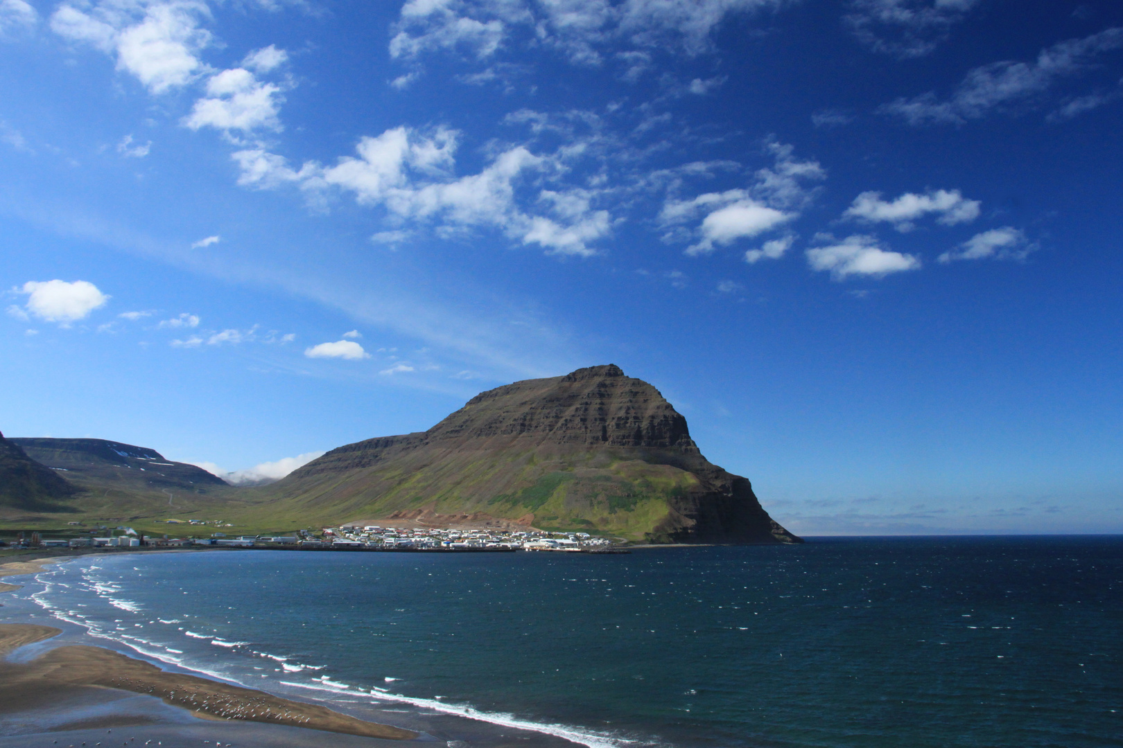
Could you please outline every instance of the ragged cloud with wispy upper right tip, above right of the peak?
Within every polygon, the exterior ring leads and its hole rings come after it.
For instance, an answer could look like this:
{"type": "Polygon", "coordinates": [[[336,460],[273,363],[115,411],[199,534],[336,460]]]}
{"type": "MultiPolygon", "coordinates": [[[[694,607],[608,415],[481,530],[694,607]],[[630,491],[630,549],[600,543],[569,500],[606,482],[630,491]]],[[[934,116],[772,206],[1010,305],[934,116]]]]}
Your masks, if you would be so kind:
{"type": "Polygon", "coordinates": [[[775,164],[758,169],[748,188],[711,192],[691,200],[667,198],[659,214],[664,227],[705,214],[695,231],[699,241],[686,249],[687,255],[712,252],[718,244],[749,239],[798,218],[800,209],[813,194],[804,183],[822,179],[825,172],[818,161],[795,159],[791,146],[773,141],[767,150],[775,164]]]}

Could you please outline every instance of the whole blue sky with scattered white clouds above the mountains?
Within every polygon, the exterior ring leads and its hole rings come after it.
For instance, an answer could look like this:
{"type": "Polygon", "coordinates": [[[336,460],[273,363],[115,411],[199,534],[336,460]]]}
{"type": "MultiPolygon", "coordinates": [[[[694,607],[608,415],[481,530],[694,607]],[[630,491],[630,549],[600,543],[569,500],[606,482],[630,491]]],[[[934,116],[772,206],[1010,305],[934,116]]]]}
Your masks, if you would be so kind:
{"type": "Polygon", "coordinates": [[[1123,532],[1117,3],[0,0],[0,56],[6,435],[283,472],[613,362],[797,533],[1123,532]]]}

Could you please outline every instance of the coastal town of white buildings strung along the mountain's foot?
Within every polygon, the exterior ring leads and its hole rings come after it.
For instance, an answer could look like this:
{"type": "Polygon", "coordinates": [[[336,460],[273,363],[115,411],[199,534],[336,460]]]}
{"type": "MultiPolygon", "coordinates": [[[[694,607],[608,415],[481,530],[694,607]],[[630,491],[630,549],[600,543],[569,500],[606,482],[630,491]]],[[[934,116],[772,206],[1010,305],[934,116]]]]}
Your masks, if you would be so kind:
{"type": "MultiPolygon", "coordinates": [[[[165,520],[171,524],[188,524],[165,520]]],[[[194,521],[191,524],[203,525],[194,521]]],[[[216,521],[221,526],[221,523],[216,521]]],[[[0,541],[2,543],[2,541],[0,541]]],[[[611,539],[575,532],[539,529],[493,529],[454,527],[383,527],[380,525],[340,525],[319,532],[298,530],[289,535],[238,535],[211,533],[208,537],[168,537],[137,533],[131,527],[98,526],[79,537],[51,538],[39,533],[19,533],[10,545],[39,548],[134,548],[134,547],[226,547],[289,551],[403,551],[403,552],[568,552],[627,553],[611,539]],[[99,536],[99,533],[101,534],[99,536]]]]}

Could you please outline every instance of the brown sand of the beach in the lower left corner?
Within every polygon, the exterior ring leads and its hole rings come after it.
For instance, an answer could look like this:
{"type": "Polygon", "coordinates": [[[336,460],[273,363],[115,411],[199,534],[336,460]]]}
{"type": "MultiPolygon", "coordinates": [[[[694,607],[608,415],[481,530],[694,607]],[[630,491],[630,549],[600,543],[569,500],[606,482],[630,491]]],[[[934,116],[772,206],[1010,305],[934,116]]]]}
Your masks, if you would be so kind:
{"type": "MultiPolygon", "coordinates": [[[[42,571],[45,564],[62,560],[65,557],[21,558],[0,565],[0,578],[34,574],[42,571]]],[[[3,585],[0,592],[19,589],[18,585],[2,582],[0,584],[3,585]]],[[[62,629],[49,626],[0,624],[0,718],[49,710],[51,707],[67,701],[82,704],[104,702],[104,696],[110,695],[106,692],[113,691],[158,699],[165,704],[185,710],[191,717],[212,723],[259,722],[289,728],[286,732],[290,735],[285,742],[293,745],[304,742],[300,733],[308,733],[308,737],[314,738],[316,733],[312,731],[382,740],[412,740],[420,737],[418,732],[411,730],[367,722],[319,704],[283,699],[263,691],[186,673],[164,671],[141,659],[103,647],[57,646],[47,648],[43,654],[26,662],[11,661],[10,655],[20,648],[49,641],[60,634],[62,629]],[[295,735],[291,733],[293,730],[295,735]]],[[[129,700],[125,701],[133,703],[129,700]]],[[[79,739],[84,737],[79,732],[90,729],[111,730],[113,727],[158,721],[158,717],[128,713],[137,711],[136,709],[110,709],[109,713],[100,713],[93,720],[82,719],[79,714],[82,710],[74,711],[76,719],[54,723],[47,728],[49,732],[77,731],[74,739],[79,739]]],[[[57,738],[55,735],[55,739],[57,738]]]]}

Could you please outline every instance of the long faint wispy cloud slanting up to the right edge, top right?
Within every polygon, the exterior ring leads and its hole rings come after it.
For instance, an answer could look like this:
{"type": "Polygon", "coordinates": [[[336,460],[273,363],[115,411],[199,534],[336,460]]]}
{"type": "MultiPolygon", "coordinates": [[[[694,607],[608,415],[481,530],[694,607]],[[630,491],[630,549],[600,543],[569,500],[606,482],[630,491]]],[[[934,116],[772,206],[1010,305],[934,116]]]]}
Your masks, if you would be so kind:
{"type": "Polygon", "coordinates": [[[1030,107],[1066,77],[1092,70],[1105,52],[1123,47],[1123,27],[1108,28],[1083,39],[1068,39],[1042,49],[1032,63],[1003,61],[976,67],[941,101],[934,92],[901,98],[878,111],[901,117],[911,124],[962,123],[994,111],[1030,107]]]}

